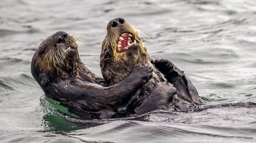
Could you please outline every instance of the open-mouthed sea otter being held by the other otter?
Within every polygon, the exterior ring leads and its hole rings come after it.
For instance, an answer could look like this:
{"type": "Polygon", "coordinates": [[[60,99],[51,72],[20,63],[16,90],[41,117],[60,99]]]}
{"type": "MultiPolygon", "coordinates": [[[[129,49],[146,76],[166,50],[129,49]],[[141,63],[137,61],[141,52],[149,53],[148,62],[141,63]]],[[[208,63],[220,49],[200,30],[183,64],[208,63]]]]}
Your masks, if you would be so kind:
{"type": "Polygon", "coordinates": [[[140,89],[127,110],[143,114],[166,106],[167,111],[185,111],[204,103],[183,71],[166,59],[153,61],[139,34],[140,30],[125,19],[116,18],[107,24],[107,35],[102,42],[100,68],[108,86],[125,79],[137,66],[149,65],[154,69],[152,79],[140,89]],[[171,84],[165,82],[159,71],[171,84]],[[158,88],[158,84],[165,86],[158,88]]]}

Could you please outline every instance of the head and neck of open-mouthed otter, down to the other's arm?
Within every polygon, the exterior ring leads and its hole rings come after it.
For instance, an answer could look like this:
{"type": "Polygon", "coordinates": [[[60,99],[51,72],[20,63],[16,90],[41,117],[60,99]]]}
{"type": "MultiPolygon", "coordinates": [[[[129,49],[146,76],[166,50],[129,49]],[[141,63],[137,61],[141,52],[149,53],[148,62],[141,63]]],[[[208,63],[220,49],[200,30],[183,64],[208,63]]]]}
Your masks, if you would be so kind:
{"type": "Polygon", "coordinates": [[[114,79],[112,76],[117,76],[115,83],[119,82],[135,67],[151,64],[147,48],[138,37],[141,34],[123,18],[112,19],[107,24],[100,56],[102,75],[107,82],[114,79]]]}

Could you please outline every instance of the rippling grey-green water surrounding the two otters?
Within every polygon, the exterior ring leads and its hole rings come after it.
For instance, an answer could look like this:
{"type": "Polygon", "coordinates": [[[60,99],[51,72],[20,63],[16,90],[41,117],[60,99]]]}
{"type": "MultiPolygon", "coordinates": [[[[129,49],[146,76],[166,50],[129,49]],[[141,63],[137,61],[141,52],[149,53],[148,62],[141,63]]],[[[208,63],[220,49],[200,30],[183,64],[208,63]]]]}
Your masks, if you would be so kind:
{"type": "Polygon", "coordinates": [[[1,0],[1,143],[256,142],[255,108],[93,121],[60,114],[31,75],[35,50],[55,31],[79,35],[81,60],[101,75],[101,43],[116,17],[144,31],[151,56],[185,71],[203,99],[256,102],[255,0],[1,0]]]}

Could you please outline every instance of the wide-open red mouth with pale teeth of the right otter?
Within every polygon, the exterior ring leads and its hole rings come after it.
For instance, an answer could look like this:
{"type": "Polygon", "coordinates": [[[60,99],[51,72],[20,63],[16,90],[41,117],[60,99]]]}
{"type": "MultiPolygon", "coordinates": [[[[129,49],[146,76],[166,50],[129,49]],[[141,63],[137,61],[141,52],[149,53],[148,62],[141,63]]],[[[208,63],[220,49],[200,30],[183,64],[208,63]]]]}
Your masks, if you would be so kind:
{"type": "Polygon", "coordinates": [[[123,52],[129,49],[131,46],[137,44],[136,40],[132,38],[133,36],[129,33],[123,33],[118,38],[117,51],[123,52]]]}

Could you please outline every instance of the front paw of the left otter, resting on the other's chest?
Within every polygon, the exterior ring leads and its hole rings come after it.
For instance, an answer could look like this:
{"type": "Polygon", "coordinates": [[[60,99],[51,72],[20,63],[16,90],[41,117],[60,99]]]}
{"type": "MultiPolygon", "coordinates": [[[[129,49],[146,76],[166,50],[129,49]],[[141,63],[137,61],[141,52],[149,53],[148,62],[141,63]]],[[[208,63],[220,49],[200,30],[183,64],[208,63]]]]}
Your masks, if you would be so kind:
{"type": "Polygon", "coordinates": [[[142,65],[138,66],[131,72],[132,74],[135,74],[136,76],[139,76],[141,81],[145,84],[149,81],[149,79],[153,76],[153,68],[151,66],[142,65]]]}

